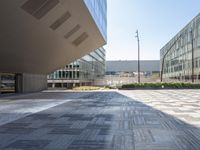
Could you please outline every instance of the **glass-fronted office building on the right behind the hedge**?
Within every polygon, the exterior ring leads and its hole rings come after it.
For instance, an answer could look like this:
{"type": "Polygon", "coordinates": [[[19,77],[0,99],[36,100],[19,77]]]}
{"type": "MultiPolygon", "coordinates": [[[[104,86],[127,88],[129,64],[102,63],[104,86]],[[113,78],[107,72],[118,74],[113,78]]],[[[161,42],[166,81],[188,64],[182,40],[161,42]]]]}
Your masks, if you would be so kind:
{"type": "Polygon", "coordinates": [[[200,14],[160,50],[164,81],[200,80],[200,14]]]}

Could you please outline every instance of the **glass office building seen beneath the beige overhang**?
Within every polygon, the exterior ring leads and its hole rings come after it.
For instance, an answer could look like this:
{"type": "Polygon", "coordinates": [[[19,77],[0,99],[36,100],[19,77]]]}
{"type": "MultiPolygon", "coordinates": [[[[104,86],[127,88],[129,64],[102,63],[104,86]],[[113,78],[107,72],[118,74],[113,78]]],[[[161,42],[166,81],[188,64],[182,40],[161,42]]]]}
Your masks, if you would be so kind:
{"type": "Polygon", "coordinates": [[[72,88],[93,85],[105,75],[105,50],[98,48],[90,54],[48,75],[48,87],[72,88]]]}

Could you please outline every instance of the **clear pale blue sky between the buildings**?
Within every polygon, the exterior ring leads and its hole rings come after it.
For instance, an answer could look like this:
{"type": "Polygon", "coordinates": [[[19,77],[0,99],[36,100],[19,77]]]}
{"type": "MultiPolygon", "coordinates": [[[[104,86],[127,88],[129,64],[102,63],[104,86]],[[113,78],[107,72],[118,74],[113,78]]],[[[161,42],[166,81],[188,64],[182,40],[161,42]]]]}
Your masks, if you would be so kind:
{"type": "Polygon", "coordinates": [[[141,59],[159,59],[160,49],[200,12],[200,0],[107,2],[107,60],[137,59],[137,29],[141,39],[141,59]]]}

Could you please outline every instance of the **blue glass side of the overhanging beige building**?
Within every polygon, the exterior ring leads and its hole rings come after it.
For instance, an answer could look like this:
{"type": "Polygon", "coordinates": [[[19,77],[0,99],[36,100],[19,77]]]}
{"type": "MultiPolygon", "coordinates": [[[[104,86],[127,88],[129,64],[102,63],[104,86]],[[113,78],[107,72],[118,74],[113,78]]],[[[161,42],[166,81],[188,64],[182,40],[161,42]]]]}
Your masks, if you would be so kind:
{"type": "Polygon", "coordinates": [[[107,0],[84,0],[103,37],[107,40],[107,0]]]}

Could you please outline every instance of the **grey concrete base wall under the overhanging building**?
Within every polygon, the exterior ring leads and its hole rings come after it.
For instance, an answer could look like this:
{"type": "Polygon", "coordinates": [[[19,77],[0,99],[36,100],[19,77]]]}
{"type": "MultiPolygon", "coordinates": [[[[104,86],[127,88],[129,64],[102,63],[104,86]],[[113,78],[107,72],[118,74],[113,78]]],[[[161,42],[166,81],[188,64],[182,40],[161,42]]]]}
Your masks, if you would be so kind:
{"type": "Polygon", "coordinates": [[[47,89],[47,75],[22,74],[22,93],[38,92],[47,89]]]}

